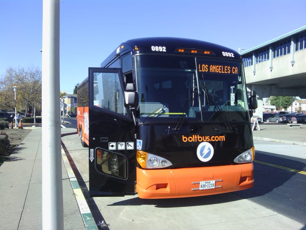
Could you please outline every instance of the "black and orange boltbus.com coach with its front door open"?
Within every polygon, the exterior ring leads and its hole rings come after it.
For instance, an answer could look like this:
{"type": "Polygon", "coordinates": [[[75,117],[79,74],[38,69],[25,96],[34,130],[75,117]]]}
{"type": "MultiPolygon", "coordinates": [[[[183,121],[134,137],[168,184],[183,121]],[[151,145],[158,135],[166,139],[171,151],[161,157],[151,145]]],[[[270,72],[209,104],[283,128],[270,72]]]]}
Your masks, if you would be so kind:
{"type": "Polygon", "coordinates": [[[191,39],[122,43],[77,92],[90,196],[195,197],[251,188],[255,149],[240,55],[191,39]]]}

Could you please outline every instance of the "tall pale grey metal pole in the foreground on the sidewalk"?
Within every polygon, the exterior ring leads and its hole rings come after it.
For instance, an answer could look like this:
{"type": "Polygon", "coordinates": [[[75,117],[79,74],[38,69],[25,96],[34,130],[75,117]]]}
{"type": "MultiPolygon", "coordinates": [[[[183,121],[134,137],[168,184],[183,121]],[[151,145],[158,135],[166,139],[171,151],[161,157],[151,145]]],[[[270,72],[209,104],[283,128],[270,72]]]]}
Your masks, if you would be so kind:
{"type": "Polygon", "coordinates": [[[42,229],[64,229],[59,83],[59,1],[43,0],[42,229]],[[55,116],[54,116],[55,115],[55,116]]]}

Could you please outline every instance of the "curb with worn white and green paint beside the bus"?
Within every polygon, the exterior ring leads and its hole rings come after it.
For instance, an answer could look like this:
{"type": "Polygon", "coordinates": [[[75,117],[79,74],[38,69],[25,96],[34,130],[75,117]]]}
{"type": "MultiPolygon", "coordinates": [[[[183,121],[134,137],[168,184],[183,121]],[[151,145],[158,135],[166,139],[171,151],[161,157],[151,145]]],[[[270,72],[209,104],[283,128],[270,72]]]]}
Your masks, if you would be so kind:
{"type": "MultiPolygon", "coordinates": [[[[62,136],[67,136],[67,135],[72,135],[72,134],[76,134],[76,132],[65,133],[65,134],[62,134],[61,137],[62,136]]],[[[69,178],[71,187],[73,189],[73,193],[75,194],[76,202],[79,206],[79,210],[80,210],[83,222],[84,222],[84,226],[87,230],[98,230],[97,224],[95,223],[95,220],[94,220],[94,218],[91,214],[91,211],[89,209],[87,201],[86,201],[86,199],[84,197],[84,194],[83,194],[83,192],[80,188],[79,182],[76,179],[73,168],[70,165],[70,162],[69,162],[68,158],[71,158],[71,157],[70,157],[68,151],[66,150],[67,151],[66,152],[64,150],[64,148],[66,148],[66,147],[65,147],[64,143],[62,142],[62,146],[61,146],[62,159],[63,159],[64,165],[65,165],[65,168],[66,168],[66,171],[67,171],[67,174],[68,174],[68,178],[69,178]]]]}

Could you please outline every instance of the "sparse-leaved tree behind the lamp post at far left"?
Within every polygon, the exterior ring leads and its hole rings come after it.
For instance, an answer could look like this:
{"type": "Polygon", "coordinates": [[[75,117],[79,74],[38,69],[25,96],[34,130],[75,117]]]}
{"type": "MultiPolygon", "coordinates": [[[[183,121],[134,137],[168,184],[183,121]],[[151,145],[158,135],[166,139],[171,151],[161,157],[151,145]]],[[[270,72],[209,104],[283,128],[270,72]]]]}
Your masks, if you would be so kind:
{"type": "Polygon", "coordinates": [[[24,110],[34,107],[41,108],[41,70],[36,68],[12,68],[6,69],[6,74],[0,79],[0,106],[2,109],[13,109],[15,107],[13,86],[17,86],[16,107],[24,110]]]}

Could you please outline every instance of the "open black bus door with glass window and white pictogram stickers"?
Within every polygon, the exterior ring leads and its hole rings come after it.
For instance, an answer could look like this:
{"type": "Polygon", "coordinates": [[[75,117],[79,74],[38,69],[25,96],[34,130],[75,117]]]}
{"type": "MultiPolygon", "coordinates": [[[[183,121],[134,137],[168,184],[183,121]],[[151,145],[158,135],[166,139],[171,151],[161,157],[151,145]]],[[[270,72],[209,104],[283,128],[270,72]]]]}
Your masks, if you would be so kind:
{"type": "Polygon", "coordinates": [[[90,196],[135,194],[135,123],[119,68],[88,68],[90,196]]]}

